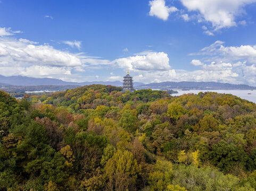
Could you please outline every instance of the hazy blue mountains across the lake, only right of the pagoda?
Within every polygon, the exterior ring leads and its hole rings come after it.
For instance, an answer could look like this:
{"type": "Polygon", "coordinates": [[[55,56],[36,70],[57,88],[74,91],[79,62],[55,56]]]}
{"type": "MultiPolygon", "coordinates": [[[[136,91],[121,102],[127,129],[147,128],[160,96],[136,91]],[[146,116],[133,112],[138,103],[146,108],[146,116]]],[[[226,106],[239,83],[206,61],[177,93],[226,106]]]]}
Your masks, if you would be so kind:
{"type": "Polygon", "coordinates": [[[160,82],[136,86],[137,89],[255,90],[255,86],[219,82],[160,82]]]}

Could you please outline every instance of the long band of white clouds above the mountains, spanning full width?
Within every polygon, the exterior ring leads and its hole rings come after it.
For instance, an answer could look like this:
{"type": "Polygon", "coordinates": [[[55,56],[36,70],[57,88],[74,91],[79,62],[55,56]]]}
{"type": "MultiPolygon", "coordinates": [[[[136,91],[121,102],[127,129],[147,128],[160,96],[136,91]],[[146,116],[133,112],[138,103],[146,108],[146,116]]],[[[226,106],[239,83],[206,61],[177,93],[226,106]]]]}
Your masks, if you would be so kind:
{"type": "Polygon", "coordinates": [[[70,53],[28,39],[14,38],[14,31],[0,28],[0,74],[54,77],[65,81],[122,80],[129,70],[135,81],[215,81],[256,84],[256,45],[225,46],[217,40],[190,54],[194,70],[172,68],[168,54],[145,50],[113,60],[70,53]],[[10,33],[10,34],[9,34],[10,33]],[[109,71],[98,75],[98,72],[109,71]],[[91,74],[90,76],[85,75],[91,74]],[[94,74],[93,74],[94,73],[94,74]],[[117,75],[115,75],[117,74],[117,75]],[[109,76],[108,76],[109,75],[109,76]]]}

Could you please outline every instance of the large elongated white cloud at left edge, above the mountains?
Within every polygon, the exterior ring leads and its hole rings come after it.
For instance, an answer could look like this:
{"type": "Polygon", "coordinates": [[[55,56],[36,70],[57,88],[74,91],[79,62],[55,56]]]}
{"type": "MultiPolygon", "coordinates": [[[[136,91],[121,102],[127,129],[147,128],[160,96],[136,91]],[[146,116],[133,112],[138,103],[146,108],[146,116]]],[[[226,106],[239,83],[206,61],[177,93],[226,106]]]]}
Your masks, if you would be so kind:
{"type": "MultiPolygon", "coordinates": [[[[15,32],[15,31],[14,31],[15,32]]],[[[78,55],[39,45],[28,39],[0,38],[0,74],[60,79],[74,71],[84,71],[78,55]]]]}

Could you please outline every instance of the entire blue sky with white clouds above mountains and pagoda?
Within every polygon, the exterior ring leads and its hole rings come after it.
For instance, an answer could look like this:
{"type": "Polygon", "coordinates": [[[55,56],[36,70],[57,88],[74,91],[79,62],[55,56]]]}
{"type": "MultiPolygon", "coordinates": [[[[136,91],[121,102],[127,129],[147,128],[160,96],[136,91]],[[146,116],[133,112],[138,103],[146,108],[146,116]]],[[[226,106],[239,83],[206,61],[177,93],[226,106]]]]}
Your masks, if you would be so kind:
{"type": "Polygon", "coordinates": [[[0,75],[256,86],[256,0],[0,0],[0,75]]]}

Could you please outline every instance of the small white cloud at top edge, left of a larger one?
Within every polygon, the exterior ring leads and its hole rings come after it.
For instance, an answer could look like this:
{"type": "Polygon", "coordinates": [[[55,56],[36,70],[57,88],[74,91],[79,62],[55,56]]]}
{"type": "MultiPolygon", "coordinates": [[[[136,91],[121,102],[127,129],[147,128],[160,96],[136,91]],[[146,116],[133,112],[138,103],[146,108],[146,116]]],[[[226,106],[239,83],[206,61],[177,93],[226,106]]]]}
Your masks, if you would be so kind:
{"type": "Polygon", "coordinates": [[[159,19],[166,21],[169,17],[169,14],[176,11],[178,11],[176,7],[166,6],[166,2],[164,0],[150,1],[150,16],[156,16],[159,19]]]}

